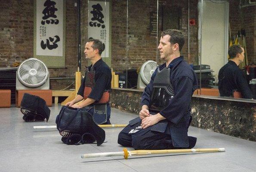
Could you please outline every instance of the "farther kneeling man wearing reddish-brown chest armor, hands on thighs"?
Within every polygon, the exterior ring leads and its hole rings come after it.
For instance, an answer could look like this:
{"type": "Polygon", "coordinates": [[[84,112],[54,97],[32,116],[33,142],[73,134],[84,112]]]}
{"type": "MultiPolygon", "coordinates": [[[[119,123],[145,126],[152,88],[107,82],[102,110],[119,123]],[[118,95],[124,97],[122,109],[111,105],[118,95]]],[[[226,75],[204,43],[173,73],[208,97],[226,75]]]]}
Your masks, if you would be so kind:
{"type": "Polygon", "coordinates": [[[66,106],[80,108],[93,115],[96,124],[110,124],[109,92],[111,91],[111,70],[102,60],[105,46],[100,40],[89,39],[85,45],[85,58],[91,61],[87,68],[77,96],[66,106]],[[75,104],[83,100],[80,104],[75,104]]]}

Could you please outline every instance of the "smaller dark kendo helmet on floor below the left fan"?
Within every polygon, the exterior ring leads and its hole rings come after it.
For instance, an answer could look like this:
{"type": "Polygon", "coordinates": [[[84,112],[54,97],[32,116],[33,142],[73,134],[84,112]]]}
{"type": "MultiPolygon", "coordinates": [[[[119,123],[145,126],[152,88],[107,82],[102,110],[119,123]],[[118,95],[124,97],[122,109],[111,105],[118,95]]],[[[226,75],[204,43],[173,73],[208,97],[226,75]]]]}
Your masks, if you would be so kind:
{"type": "Polygon", "coordinates": [[[26,122],[44,121],[44,119],[47,122],[51,111],[43,98],[25,93],[21,101],[21,112],[26,122]]]}

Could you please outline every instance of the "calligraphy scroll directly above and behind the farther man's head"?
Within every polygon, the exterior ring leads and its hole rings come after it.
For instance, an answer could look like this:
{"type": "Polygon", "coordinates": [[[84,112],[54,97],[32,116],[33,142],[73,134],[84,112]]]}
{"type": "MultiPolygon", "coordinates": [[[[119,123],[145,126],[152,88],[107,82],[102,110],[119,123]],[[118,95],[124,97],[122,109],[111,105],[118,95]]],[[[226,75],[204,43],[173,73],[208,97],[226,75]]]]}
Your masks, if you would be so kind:
{"type": "MultiPolygon", "coordinates": [[[[110,57],[109,33],[109,2],[89,0],[88,36],[105,44],[102,57],[110,57]]],[[[103,60],[110,62],[110,59],[103,60]]]]}

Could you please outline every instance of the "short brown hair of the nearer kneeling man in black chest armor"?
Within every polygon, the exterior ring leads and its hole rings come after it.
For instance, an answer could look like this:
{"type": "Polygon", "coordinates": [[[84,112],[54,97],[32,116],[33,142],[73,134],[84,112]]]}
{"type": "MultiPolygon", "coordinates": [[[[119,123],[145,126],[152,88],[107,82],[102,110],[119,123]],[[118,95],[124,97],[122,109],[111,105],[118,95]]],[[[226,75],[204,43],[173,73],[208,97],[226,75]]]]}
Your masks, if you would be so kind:
{"type": "Polygon", "coordinates": [[[179,31],[176,29],[167,29],[165,31],[162,31],[161,37],[165,35],[170,35],[169,42],[171,44],[175,44],[175,43],[179,44],[179,52],[181,52],[182,47],[185,43],[185,35],[182,33],[182,31],[179,31]]]}

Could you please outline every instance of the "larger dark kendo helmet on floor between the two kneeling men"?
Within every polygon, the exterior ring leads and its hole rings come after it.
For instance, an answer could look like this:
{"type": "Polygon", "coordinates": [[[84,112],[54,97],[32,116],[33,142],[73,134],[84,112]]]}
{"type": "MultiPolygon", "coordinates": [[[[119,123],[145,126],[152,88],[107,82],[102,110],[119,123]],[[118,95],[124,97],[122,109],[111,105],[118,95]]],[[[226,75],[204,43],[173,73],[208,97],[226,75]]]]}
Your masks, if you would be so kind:
{"type": "Polygon", "coordinates": [[[105,140],[105,131],[94,121],[93,116],[79,108],[63,106],[56,117],[57,129],[65,144],[86,144],[105,140]]]}

